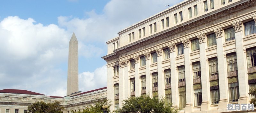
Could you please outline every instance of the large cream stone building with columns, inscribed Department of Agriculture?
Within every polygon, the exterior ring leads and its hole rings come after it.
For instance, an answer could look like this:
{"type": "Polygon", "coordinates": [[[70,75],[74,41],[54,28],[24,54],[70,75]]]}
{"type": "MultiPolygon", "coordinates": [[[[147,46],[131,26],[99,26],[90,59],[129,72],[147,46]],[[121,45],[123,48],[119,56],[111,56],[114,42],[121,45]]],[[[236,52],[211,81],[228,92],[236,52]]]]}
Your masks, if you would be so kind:
{"type": "Polygon", "coordinates": [[[256,87],[256,0],[186,0],[107,42],[112,110],[164,96],[180,112],[226,112],[256,87]]]}

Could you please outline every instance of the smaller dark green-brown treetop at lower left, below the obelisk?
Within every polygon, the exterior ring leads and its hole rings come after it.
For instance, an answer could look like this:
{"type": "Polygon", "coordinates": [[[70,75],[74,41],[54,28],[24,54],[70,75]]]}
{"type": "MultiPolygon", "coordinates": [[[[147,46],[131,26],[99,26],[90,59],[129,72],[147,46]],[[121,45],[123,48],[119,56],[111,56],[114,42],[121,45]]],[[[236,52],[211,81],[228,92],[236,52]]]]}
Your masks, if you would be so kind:
{"type": "Polygon", "coordinates": [[[63,109],[60,102],[45,103],[41,101],[28,106],[28,113],[62,113],[63,109]]]}

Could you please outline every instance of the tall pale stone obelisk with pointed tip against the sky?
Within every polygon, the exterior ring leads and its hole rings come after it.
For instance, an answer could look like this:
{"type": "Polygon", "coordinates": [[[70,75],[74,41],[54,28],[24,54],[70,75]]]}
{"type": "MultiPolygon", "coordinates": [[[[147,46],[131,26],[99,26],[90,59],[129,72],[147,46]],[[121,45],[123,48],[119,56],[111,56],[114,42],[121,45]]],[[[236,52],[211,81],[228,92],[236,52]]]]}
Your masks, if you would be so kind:
{"type": "Polygon", "coordinates": [[[78,41],[73,32],[68,49],[67,95],[78,92],[78,41]]]}

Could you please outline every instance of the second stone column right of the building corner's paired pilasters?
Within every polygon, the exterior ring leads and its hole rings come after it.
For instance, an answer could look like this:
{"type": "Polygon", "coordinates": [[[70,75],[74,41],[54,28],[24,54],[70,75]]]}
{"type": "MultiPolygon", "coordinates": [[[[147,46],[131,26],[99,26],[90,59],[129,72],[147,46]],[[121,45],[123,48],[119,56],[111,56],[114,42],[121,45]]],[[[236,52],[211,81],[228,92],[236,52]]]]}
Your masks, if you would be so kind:
{"type": "Polygon", "coordinates": [[[147,95],[149,94],[150,97],[152,97],[152,81],[151,76],[150,76],[150,53],[147,52],[144,54],[146,57],[146,92],[147,95]]]}

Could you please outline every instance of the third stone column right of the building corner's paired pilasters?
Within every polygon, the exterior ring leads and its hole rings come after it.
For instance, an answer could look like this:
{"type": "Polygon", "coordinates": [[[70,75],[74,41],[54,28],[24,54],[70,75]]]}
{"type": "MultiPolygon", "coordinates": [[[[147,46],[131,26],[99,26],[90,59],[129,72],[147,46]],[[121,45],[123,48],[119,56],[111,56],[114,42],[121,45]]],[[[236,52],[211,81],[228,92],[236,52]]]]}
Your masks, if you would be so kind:
{"type": "Polygon", "coordinates": [[[158,75],[158,97],[161,98],[164,95],[164,75],[162,71],[162,48],[156,49],[157,52],[157,75],[158,75]]]}

